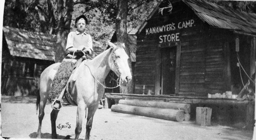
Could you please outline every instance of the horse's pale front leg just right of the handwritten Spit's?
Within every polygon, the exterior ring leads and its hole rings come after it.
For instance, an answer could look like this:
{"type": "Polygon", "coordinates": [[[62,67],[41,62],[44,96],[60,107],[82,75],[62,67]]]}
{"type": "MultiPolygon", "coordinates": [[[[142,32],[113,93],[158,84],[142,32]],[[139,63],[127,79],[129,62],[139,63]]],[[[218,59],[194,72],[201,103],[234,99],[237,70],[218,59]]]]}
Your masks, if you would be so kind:
{"type": "Polygon", "coordinates": [[[82,119],[86,114],[86,105],[84,103],[78,103],[77,113],[76,113],[76,129],[75,129],[75,139],[79,138],[82,131],[82,119]]]}

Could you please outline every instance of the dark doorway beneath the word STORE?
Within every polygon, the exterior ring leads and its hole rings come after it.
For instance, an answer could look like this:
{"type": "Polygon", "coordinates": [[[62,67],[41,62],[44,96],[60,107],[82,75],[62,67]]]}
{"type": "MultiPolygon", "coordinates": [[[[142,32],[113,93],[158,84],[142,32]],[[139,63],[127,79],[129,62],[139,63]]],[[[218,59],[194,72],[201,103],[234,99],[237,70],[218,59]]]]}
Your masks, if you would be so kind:
{"type": "Polygon", "coordinates": [[[161,49],[161,94],[175,94],[176,46],[161,49]]]}

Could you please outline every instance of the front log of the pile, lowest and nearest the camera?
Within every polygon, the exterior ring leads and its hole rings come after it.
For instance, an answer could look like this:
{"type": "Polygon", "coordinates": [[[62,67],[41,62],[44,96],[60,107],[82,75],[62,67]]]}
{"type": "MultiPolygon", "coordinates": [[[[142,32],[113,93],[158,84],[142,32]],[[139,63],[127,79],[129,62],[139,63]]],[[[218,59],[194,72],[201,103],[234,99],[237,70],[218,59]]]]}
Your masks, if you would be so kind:
{"type": "Polygon", "coordinates": [[[127,114],[143,115],[143,116],[164,119],[169,121],[177,121],[177,122],[184,121],[183,110],[118,104],[118,105],[112,105],[111,111],[127,113],[127,114]]]}

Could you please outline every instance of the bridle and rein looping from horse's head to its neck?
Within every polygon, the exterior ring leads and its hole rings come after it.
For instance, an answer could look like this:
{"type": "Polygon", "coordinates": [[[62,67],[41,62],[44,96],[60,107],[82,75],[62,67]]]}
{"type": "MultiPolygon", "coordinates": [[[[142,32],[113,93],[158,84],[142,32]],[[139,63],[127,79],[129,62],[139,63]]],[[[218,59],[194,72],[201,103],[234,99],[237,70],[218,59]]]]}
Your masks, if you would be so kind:
{"type": "MultiPolygon", "coordinates": [[[[117,49],[121,49],[121,48],[123,48],[123,47],[119,46],[117,49]]],[[[115,52],[117,49],[113,50],[113,52],[112,52],[112,59],[113,59],[113,62],[114,62],[114,64],[115,64],[115,66],[116,66],[117,74],[119,74],[119,75],[121,76],[121,72],[120,72],[119,66],[118,66],[118,64],[117,64],[117,62],[116,62],[116,58],[115,58],[115,54],[114,54],[114,52],[115,52]]],[[[86,65],[86,64],[84,63],[84,65],[86,65]]],[[[123,87],[123,86],[121,85],[121,78],[120,78],[120,77],[117,78],[117,80],[115,80],[116,83],[117,83],[117,86],[115,86],[115,87],[108,87],[108,86],[105,86],[104,84],[102,84],[102,83],[93,75],[93,73],[92,73],[92,71],[91,71],[91,68],[90,68],[88,65],[86,65],[86,66],[89,68],[89,70],[90,70],[92,76],[94,77],[94,79],[96,79],[96,81],[97,81],[100,85],[102,85],[104,88],[113,89],[113,88],[117,88],[117,87],[119,87],[119,86],[120,86],[120,87],[123,87]],[[119,83],[118,83],[118,81],[119,81],[119,83]]]]}

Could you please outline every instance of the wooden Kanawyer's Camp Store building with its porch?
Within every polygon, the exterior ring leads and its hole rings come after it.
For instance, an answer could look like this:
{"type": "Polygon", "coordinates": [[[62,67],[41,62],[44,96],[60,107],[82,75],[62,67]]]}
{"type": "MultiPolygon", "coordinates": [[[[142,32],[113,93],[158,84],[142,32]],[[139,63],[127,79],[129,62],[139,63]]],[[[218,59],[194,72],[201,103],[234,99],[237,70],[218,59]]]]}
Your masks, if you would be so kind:
{"type": "Polygon", "coordinates": [[[254,101],[236,95],[255,73],[255,21],[207,1],[161,1],[136,33],[134,93],[105,97],[189,103],[191,119],[210,107],[213,122],[252,128],[254,101]]]}

